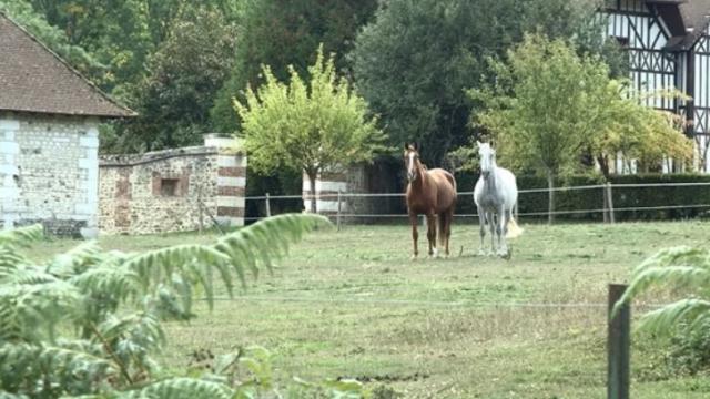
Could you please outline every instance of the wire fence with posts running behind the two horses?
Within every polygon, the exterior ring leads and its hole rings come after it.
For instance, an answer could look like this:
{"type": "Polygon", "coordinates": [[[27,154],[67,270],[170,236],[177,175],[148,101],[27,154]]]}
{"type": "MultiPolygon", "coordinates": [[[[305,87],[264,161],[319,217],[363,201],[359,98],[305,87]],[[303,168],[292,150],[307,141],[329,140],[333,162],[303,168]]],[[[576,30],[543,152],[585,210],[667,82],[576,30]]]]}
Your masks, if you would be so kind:
{"type": "MultiPolygon", "coordinates": [[[[458,192],[457,218],[478,216],[473,191],[458,192]]],[[[710,182],[631,183],[525,188],[518,191],[518,217],[552,216],[570,219],[610,221],[687,218],[710,209],[710,182]],[[556,208],[548,208],[555,192],[556,208]]],[[[377,223],[408,217],[404,193],[320,193],[303,195],[260,195],[246,197],[246,221],[257,221],[283,212],[310,208],[345,223],[377,223]]]]}

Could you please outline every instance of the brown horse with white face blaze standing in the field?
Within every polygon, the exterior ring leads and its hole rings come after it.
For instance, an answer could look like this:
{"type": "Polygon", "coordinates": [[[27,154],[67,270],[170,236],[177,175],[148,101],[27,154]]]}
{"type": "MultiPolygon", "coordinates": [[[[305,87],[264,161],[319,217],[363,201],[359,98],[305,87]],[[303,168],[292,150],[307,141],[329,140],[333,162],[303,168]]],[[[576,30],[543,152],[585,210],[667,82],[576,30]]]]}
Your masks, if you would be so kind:
{"type": "Polygon", "coordinates": [[[427,171],[419,162],[419,152],[416,145],[407,144],[404,150],[404,163],[407,170],[407,211],[412,223],[412,239],[414,242],[414,255],[418,255],[417,217],[419,214],[426,215],[428,227],[427,238],[429,241],[429,255],[437,256],[436,249],[436,227],[435,217],[438,217],[439,245],[446,250],[448,256],[448,239],[452,236],[452,221],[454,219],[454,208],[456,207],[456,181],[454,176],[442,170],[434,168],[427,171]]]}

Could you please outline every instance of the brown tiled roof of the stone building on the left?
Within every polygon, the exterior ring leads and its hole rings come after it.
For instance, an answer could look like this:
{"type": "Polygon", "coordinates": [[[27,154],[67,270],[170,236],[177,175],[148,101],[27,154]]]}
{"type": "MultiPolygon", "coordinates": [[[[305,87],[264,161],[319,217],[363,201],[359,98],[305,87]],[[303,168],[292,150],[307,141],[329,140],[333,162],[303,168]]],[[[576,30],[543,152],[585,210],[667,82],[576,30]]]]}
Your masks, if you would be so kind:
{"type": "Polygon", "coordinates": [[[134,116],[0,12],[0,111],[134,116]]]}

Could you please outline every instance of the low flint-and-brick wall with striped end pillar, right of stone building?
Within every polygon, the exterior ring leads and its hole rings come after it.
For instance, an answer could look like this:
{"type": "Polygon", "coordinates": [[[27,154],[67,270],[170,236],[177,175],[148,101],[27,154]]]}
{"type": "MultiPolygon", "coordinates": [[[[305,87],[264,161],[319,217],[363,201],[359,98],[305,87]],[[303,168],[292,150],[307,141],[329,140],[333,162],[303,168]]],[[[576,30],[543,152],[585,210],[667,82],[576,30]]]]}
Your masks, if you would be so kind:
{"type": "Polygon", "coordinates": [[[195,231],[244,224],[246,156],[233,141],[100,160],[102,234],[195,231]]]}

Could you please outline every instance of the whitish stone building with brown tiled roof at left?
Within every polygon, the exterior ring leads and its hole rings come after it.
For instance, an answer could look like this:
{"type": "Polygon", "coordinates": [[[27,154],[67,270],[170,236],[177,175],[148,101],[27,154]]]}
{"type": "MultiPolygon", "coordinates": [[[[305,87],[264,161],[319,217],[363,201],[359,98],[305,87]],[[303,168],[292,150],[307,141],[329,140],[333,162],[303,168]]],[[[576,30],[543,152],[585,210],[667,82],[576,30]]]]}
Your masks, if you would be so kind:
{"type": "Polygon", "coordinates": [[[99,124],[134,113],[0,13],[0,219],[94,236],[99,124]]]}

